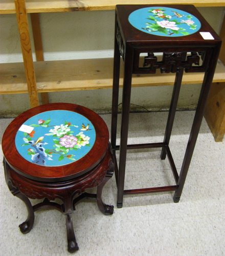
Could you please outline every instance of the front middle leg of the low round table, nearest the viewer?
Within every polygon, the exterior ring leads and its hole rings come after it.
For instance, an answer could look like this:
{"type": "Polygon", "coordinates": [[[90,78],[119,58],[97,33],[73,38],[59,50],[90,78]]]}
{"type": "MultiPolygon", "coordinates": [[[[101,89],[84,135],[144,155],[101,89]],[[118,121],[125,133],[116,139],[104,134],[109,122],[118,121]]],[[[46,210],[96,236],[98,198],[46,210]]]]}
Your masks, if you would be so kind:
{"type": "Polygon", "coordinates": [[[75,238],[72,213],[66,214],[65,218],[66,218],[68,251],[70,253],[73,253],[73,252],[79,250],[79,247],[77,245],[76,238],[75,238]]]}

